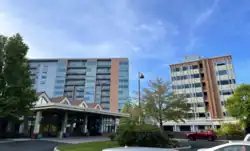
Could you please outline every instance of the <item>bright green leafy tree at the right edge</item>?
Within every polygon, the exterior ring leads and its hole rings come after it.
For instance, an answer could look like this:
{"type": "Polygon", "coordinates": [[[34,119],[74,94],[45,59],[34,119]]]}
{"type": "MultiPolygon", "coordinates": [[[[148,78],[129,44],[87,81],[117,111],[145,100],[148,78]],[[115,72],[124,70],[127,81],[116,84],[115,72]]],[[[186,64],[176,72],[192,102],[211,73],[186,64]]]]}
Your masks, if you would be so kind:
{"type": "Polygon", "coordinates": [[[250,85],[242,84],[228,98],[226,109],[230,116],[239,119],[245,127],[250,126],[250,85]]]}

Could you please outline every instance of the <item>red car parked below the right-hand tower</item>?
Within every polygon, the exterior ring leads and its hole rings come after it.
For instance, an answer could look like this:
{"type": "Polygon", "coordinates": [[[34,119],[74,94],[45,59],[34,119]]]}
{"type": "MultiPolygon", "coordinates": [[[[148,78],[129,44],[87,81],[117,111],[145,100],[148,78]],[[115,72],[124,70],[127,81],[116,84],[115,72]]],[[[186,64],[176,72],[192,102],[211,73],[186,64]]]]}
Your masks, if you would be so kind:
{"type": "Polygon", "coordinates": [[[209,141],[214,141],[217,136],[214,131],[208,130],[207,132],[192,132],[186,134],[189,140],[195,141],[196,139],[206,139],[209,141]]]}

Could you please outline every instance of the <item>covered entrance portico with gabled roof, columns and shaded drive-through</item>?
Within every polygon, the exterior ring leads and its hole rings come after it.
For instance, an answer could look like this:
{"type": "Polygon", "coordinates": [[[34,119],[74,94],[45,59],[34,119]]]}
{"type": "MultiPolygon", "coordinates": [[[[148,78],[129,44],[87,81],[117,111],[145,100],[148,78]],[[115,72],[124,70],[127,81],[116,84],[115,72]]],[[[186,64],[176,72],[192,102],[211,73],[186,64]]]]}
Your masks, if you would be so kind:
{"type": "Polygon", "coordinates": [[[118,120],[128,114],[105,111],[98,103],[69,101],[67,97],[38,96],[32,133],[47,137],[102,135],[115,132],[118,120]]]}

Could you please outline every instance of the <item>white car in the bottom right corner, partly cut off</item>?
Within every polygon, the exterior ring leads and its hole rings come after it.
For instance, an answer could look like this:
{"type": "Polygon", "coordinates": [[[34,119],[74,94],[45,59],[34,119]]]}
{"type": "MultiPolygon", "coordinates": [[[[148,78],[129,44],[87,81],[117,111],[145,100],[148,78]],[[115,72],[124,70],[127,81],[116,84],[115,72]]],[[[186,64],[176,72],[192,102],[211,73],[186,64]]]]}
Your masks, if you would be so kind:
{"type": "Polygon", "coordinates": [[[211,148],[202,148],[197,151],[250,151],[250,142],[247,141],[238,141],[230,142],[211,148]]]}

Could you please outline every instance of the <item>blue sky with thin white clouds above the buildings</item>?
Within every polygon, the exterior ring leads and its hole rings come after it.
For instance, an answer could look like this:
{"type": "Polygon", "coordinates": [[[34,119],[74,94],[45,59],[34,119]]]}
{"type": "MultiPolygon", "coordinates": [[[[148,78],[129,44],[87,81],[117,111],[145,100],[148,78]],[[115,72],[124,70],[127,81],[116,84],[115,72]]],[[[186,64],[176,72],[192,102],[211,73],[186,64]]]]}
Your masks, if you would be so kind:
{"type": "Polygon", "coordinates": [[[250,1],[0,0],[0,34],[20,33],[30,58],[128,57],[137,74],[170,80],[184,56],[232,55],[236,82],[250,83],[250,1]]]}

